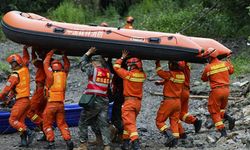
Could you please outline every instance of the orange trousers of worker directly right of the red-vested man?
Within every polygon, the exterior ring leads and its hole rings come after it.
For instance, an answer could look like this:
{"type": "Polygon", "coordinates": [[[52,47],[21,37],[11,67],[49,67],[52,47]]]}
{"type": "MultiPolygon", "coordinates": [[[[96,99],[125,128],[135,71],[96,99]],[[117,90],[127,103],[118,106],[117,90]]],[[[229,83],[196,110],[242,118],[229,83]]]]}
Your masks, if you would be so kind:
{"type": "Polygon", "coordinates": [[[139,138],[136,117],[141,110],[140,99],[126,99],[122,106],[122,121],[124,125],[123,139],[134,141],[139,138]]]}

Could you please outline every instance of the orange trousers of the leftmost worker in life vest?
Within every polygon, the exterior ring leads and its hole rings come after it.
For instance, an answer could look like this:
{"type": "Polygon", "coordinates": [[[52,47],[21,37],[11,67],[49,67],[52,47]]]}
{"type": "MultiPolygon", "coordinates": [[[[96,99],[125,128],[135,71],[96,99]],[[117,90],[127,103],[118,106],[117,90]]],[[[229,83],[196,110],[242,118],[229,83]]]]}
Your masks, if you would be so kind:
{"type": "Polygon", "coordinates": [[[26,114],[30,107],[30,100],[28,97],[17,99],[14,106],[11,109],[9,123],[17,129],[19,132],[26,131],[25,125],[26,114]]]}

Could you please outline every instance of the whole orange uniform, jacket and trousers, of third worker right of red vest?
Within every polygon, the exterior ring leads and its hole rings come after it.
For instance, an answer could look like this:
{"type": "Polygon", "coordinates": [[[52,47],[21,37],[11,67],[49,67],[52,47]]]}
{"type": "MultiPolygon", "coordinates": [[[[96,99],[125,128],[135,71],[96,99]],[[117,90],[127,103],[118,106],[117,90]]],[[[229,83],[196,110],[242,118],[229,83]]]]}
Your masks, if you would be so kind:
{"type": "Polygon", "coordinates": [[[167,129],[165,121],[170,118],[170,128],[173,135],[178,138],[180,136],[180,98],[185,76],[181,71],[163,71],[160,63],[157,63],[156,67],[157,74],[165,79],[163,88],[164,100],[161,102],[157,112],[156,126],[161,132],[165,131],[167,129]]]}

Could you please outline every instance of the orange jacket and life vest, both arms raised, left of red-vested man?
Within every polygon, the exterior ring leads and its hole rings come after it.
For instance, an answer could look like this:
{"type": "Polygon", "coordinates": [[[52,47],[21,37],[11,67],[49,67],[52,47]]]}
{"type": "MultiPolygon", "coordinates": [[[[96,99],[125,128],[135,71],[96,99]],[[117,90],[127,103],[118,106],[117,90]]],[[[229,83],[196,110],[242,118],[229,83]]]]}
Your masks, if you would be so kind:
{"type": "Polygon", "coordinates": [[[50,66],[50,60],[53,54],[54,52],[50,51],[46,55],[46,58],[44,60],[44,71],[46,74],[45,84],[46,84],[46,89],[48,92],[46,93],[46,96],[50,96],[48,101],[64,101],[64,94],[65,94],[65,89],[66,89],[66,82],[67,82],[70,62],[67,56],[63,56],[64,70],[59,71],[59,72],[53,72],[50,66]],[[59,92],[59,93],[55,93],[55,92],[59,92]]]}

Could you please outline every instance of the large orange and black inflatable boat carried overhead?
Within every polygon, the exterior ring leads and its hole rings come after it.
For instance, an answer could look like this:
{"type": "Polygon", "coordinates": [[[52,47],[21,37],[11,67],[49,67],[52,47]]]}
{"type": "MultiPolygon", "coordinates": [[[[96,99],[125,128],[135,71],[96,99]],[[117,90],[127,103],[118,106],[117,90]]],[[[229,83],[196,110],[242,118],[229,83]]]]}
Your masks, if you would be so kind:
{"type": "MultiPolygon", "coordinates": [[[[64,50],[67,55],[82,56],[91,46],[99,54],[120,57],[126,49],[132,56],[141,59],[186,60],[203,63],[202,53],[210,47],[211,39],[187,37],[152,31],[88,26],[56,22],[33,13],[11,11],[3,16],[3,32],[10,40],[43,47],[64,50]],[[199,38],[198,38],[199,39],[199,38]]],[[[214,40],[213,46],[220,47],[220,58],[231,53],[214,40]]]]}

